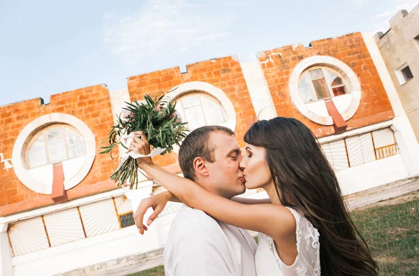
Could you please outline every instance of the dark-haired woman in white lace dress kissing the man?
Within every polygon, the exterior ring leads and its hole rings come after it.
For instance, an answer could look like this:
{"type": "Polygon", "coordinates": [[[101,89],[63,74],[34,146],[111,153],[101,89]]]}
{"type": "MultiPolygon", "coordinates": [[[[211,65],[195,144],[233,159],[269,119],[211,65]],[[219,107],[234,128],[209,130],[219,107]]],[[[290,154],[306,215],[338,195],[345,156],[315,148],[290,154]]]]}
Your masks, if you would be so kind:
{"type": "MultiPolygon", "coordinates": [[[[147,139],[140,134],[130,150],[148,154],[147,139]]],[[[271,204],[237,203],[163,170],[150,158],[137,162],[189,207],[258,231],[258,275],[377,275],[376,262],[310,129],[297,119],[276,117],[253,124],[244,141],[240,167],[246,187],[265,189],[271,204]]]]}

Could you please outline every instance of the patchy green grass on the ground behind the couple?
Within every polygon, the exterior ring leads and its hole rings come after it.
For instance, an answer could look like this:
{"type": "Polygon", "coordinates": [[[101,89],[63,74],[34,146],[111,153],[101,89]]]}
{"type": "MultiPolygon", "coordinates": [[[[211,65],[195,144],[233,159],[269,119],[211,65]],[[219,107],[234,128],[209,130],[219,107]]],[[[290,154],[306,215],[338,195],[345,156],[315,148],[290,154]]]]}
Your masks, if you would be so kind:
{"type": "MultiPolygon", "coordinates": [[[[351,212],[380,267],[379,275],[419,275],[419,199],[351,212]]],[[[255,238],[257,242],[257,237],[255,238]]],[[[130,276],[161,276],[158,266],[130,276]]]]}

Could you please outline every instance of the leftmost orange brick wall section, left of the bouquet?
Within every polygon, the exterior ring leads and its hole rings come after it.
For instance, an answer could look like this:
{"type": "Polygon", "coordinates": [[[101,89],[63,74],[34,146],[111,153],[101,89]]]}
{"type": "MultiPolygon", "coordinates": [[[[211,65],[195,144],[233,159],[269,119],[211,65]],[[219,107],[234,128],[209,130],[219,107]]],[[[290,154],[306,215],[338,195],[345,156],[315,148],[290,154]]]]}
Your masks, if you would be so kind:
{"type": "MultiPolygon", "coordinates": [[[[12,157],[13,146],[20,131],[34,119],[52,112],[66,113],[81,119],[96,138],[96,159],[87,176],[67,191],[68,199],[79,198],[101,191],[115,189],[109,180],[117,161],[98,154],[112,126],[112,110],[108,88],[96,85],[51,96],[50,103],[41,106],[40,99],[32,99],[0,107],[0,152],[4,158],[12,157]]],[[[0,163],[0,217],[16,212],[53,204],[51,195],[38,194],[24,186],[13,168],[5,170],[0,163]]]]}

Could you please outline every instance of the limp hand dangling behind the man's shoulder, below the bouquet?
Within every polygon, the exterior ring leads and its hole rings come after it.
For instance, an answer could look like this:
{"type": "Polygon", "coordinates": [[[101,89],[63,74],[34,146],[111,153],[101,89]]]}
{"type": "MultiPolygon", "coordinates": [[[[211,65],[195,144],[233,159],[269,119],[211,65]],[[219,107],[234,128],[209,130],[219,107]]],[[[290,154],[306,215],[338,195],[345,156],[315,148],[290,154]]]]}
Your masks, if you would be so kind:
{"type": "Polygon", "coordinates": [[[147,212],[149,208],[153,208],[154,210],[149,219],[147,219],[147,225],[149,226],[161,213],[161,211],[163,211],[171,197],[172,194],[170,194],[169,191],[163,191],[162,193],[156,194],[155,196],[142,199],[134,214],[135,225],[137,226],[141,235],[144,234],[144,231],[147,231],[147,226],[142,224],[142,219],[144,218],[145,212],[147,212]]]}

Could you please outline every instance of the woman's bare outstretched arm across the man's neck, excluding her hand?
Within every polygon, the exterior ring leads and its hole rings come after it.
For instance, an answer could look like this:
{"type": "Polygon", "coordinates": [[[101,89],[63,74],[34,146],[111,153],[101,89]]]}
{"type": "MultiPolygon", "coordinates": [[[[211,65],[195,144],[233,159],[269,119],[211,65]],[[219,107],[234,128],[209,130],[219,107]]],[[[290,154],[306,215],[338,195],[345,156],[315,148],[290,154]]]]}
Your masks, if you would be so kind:
{"type": "Polygon", "coordinates": [[[295,229],[295,220],[284,206],[247,205],[230,201],[206,191],[195,182],[169,173],[156,164],[141,162],[142,170],[191,208],[203,210],[233,226],[258,231],[271,238],[282,238],[295,229]],[[281,226],[281,227],[278,227],[281,226]]]}

